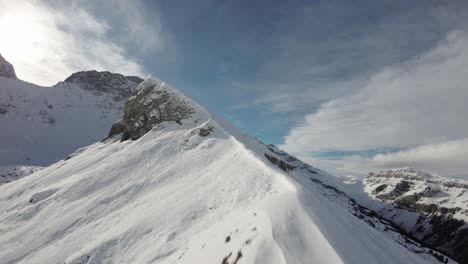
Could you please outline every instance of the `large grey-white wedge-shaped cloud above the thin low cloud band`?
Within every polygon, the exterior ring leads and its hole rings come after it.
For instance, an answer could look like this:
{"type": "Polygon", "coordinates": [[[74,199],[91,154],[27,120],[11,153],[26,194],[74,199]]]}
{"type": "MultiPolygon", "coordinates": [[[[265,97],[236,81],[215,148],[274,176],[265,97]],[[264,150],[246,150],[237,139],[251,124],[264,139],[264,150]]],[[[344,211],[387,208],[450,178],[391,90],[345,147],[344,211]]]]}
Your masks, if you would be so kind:
{"type": "Polygon", "coordinates": [[[285,137],[299,155],[324,150],[408,148],[468,135],[468,36],[451,32],[433,50],[322,104],[285,137]]]}

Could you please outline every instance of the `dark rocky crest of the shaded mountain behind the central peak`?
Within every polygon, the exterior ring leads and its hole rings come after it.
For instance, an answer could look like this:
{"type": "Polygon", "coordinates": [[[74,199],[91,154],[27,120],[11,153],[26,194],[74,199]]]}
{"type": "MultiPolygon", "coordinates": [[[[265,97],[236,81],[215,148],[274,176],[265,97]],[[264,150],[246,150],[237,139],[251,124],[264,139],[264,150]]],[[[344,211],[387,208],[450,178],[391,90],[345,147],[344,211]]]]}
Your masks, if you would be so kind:
{"type": "Polygon", "coordinates": [[[116,101],[128,98],[142,81],[140,77],[107,71],[81,71],[65,79],[65,82],[78,84],[81,88],[97,94],[110,93],[116,101]]]}

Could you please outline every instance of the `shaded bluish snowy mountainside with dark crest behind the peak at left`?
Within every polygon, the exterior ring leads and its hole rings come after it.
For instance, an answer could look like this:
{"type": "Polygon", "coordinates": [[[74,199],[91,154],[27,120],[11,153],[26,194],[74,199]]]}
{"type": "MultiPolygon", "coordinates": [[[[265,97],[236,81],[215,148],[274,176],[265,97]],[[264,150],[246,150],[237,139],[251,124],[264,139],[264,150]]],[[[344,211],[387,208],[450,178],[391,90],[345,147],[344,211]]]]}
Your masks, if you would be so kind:
{"type": "Polygon", "coordinates": [[[103,138],[141,81],[88,71],[41,87],[0,76],[0,166],[50,165],[103,138]]]}

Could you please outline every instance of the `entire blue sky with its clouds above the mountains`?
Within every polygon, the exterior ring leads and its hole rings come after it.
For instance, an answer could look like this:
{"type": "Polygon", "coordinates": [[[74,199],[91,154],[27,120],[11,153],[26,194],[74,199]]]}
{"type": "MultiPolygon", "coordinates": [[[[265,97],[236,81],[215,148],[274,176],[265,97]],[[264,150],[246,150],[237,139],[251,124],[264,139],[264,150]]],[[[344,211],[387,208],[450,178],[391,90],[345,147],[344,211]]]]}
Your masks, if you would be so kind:
{"type": "Polygon", "coordinates": [[[0,26],[13,35],[0,52],[27,81],[151,74],[336,174],[466,169],[466,1],[0,0],[0,10],[39,32],[0,26]]]}

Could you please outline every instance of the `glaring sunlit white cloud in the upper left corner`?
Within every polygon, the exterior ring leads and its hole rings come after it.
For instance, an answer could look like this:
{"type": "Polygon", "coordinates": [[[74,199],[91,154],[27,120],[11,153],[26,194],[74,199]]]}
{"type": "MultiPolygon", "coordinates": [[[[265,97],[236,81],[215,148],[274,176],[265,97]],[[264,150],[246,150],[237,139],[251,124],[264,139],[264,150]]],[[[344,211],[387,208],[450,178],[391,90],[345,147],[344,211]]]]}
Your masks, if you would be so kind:
{"type": "MultiPolygon", "coordinates": [[[[126,52],[127,43],[118,42],[118,34],[110,34],[115,29],[108,18],[98,18],[77,3],[52,6],[43,1],[0,0],[0,52],[14,65],[18,77],[51,85],[79,70],[144,76],[143,67],[126,52]]],[[[115,10],[124,8],[123,4],[117,6],[115,10]]],[[[135,30],[143,24],[144,15],[129,11],[139,22],[126,29],[128,41],[145,43],[148,39],[147,43],[159,45],[160,28],[145,36],[135,30]]]]}

